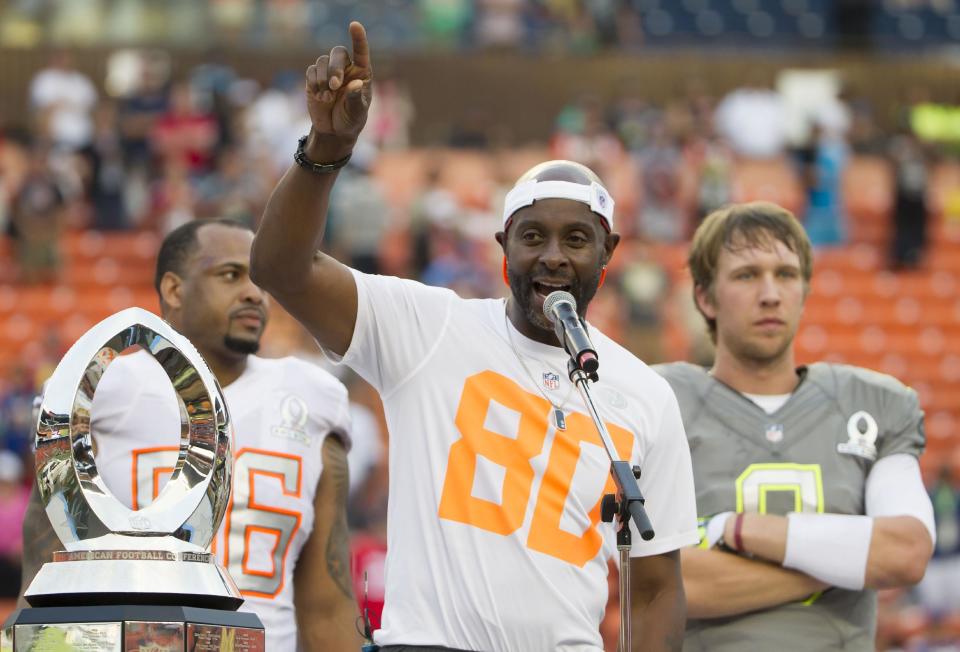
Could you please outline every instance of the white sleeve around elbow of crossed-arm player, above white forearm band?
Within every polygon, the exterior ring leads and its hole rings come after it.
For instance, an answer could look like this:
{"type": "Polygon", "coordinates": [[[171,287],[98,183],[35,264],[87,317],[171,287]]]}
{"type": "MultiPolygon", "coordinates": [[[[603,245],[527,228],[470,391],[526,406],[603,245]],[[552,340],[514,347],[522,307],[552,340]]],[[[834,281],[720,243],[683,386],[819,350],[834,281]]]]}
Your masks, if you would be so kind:
{"type": "Polygon", "coordinates": [[[923,486],[920,462],[913,455],[896,453],[873,465],[867,475],[866,505],[867,516],[913,516],[936,544],[933,505],[923,486]]]}

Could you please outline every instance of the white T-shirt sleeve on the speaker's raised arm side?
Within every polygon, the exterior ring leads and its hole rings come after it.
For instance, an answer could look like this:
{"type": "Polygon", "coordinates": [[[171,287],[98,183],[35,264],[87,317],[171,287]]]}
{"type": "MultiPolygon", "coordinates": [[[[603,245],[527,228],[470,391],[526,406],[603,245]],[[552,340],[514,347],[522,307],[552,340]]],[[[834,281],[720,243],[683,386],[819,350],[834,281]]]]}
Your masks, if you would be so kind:
{"type": "Polygon", "coordinates": [[[386,399],[436,351],[456,295],[416,281],[351,270],[357,322],[343,358],[386,399]]]}

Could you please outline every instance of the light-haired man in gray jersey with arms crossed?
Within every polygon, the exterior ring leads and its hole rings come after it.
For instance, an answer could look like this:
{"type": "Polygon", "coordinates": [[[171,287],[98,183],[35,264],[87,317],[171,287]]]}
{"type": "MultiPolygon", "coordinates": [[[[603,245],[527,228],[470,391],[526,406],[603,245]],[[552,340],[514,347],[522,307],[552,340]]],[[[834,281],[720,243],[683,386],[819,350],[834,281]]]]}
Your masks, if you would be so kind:
{"type": "Polygon", "coordinates": [[[797,367],[810,242],[769,203],[709,215],[689,257],[713,367],[660,365],[690,442],[700,546],[682,552],[684,650],[874,650],[875,589],[933,547],[923,412],[890,376],[797,367]]]}

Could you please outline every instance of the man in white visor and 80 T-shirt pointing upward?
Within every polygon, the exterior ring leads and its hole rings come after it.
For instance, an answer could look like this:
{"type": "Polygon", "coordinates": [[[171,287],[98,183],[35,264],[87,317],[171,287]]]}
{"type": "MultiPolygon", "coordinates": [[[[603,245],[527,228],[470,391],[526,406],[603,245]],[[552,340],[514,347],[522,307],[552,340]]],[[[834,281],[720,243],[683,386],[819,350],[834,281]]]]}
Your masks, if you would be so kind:
{"type": "MultiPolygon", "coordinates": [[[[581,314],[619,236],[599,179],[568,161],[537,166],[507,196],[507,300],[361,274],[316,252],[336,169],[371,97],[366,34],[350,25],[306,72],[312,120],[277,186],[251,272],[380,393],[390,432],[385,652],[599,652],[612,527],[600,500],[609,461],[567,380],[543,316],[569,291],[581,314]]],[[[677,649],[678,549],[697,540],[689,450],[668,384],[587,326],[601,361],[594,396],[620,457],[642,467],[656,530],[633,540],[635,650],[677,649]]]]}

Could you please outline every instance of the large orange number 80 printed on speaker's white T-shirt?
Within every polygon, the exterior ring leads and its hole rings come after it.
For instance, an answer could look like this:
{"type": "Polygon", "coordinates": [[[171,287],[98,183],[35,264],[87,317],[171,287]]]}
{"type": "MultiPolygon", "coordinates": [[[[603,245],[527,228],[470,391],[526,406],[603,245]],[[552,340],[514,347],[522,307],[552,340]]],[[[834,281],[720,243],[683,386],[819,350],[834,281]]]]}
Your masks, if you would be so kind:
{"type": "MultiPolygon", "coordinates": [[[[542,397],[493,371],[467,378],[456,415],[461,438],[450,447],[438,511],[440,518],[495,534],[516,532],[523,525],[533,487],[535,470],[531,460],[543,451],[552,409],[542,397]],[[494,402],[520,415],[516,438],[485,427],[487,413],[494,402]],[[472,493],[479,456],[505,470],[499,504],[472,493]]],[[[603,445],[587,415],[575,412],[567,417],[566,425],[566,430],[557,431],[550,449],[533,507],[527,547],[582,567],[600,551],[603,543],[597,531],[600,500],[603,494],[614,492],[615,487],[608,475],[588,514],[590,524],[582,535],[561,529],[564,505],[581,459],[580,445],[603,445]]],[[[606,423],[606,426],[617,454],[622,459],[628,458],[633,434],[617,425],[606,423]]]]}

